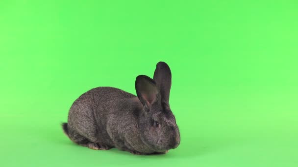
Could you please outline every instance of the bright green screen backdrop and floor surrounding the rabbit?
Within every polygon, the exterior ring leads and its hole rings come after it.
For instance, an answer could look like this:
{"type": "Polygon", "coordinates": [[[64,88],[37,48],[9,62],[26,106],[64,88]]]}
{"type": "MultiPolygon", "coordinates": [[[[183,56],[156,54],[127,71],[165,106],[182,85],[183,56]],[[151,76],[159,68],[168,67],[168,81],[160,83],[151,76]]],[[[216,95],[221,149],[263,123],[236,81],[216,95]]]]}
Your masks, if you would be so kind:
{"type": "Polygon", "coordinates": [[[1,0],[0,166],[298,166],[297,0],[1,0]],[[98,86],[173,75],[181,144],[136,156],[60,127],[98,86]]]}

